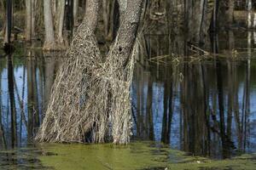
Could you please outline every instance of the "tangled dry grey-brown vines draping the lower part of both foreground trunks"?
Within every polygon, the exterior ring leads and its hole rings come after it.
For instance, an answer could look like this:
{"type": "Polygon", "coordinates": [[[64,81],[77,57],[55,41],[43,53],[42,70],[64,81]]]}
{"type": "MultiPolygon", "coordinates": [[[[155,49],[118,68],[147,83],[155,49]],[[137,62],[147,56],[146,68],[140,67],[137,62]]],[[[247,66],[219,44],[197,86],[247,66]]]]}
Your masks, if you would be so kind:
{"type": "Polygon", "coordinates": [[[133,57],[124,66],[113,48],[103,62],[95,35],[85,25],[79,26],[66,57],[56,75],[36,139],[128,143],[133,57]]]}

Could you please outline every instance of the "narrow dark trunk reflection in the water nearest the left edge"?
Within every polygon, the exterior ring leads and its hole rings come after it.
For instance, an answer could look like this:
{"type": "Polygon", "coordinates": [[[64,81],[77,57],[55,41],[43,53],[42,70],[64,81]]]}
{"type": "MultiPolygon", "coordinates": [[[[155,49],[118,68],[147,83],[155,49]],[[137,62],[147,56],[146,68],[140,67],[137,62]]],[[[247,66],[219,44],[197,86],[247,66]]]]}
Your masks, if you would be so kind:
{"type": "Polygon", "coordinates": [[[15,109],[15,87],[14,87],[14,68],[13,58],[8,57],[8,89],[9,89],[9,104],[11,111],[11,146],[15,147],[17,144],[17,122],[15,109]]]}

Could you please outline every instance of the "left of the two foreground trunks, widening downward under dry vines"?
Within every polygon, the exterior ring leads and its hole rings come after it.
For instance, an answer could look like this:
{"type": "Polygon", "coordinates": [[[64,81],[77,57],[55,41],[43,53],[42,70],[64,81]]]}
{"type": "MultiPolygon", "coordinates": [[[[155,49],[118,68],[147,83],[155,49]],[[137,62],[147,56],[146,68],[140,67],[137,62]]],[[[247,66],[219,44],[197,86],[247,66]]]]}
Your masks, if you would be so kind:
{"type": "MultiPolygon", "coordinates": [[[[44,122],[42,123],[36,138],[39,141],[84,141],[85,126],[80,126],[80,123],[78,122],[73,124],[72,121],[67,121],[67,119],[69,119],[67,116],[72,116],[73,114],[76,115],[74,117],[77,117],[80,114],[85,115],[83,112],[84,110],[77,110],[76,107],[77,105],[80,105],[79,103],[81,102],[79,98],[81,92],[77,92],[77,90],[86,88],[79,87],[79,83],[81,83],[81,85],[84,84],[84,73],[90,70],[88,67],[95,66],[96,63],[100,63],[101,60],[100,50],[97,47],[94,34],[98,21],[98,9],[99,0],[88,1],[86,3],[84,20],[73,37],[71,48],[67,51],[67,60],[63,62],[55,77],[44,122]],[[80,71],[84,73],[79,74],[80,71]],[[64,77],[63,74],[65,75],[64,77]],[[62,86],[64,83],[67,83],[68,86],[77,88],[67,89],[62,86]],[[56,97],[58,99],[55,99],[56,97]],[[71,101],[69,99],[73,100],[73,102],[70,103],[71,107],[67,105],[67,102],[71,101]],[[73,105],[75,105],[74,108],[73,105]],[[67,113],[67,115],[65,113],[67,113]],[[56,119],[55,116],[58,116],[59,119],[56,119]],[[63,124],[63,120],[65,120],[66,125],[63,124]],[[56,128],[55,125],[57,125],[56,128]]],[[[90,81],[90,78],[87,79],[86,77],[86,80],[90,81]]],[[[81,123],[84,122],[81,121],[81,123]]]]}

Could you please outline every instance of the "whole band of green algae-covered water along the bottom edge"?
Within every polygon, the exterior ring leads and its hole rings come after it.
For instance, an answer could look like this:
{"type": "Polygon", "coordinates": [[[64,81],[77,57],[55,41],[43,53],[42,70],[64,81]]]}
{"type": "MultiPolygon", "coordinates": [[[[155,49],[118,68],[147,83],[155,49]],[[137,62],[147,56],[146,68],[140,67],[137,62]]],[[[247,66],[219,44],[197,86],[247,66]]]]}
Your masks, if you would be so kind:
{"type": "Polygon", "coordinates": [[[159,169],[256,169],[256,154],[217,161],[186,156],[179,150],[156,143],[39,144],[38,147],[0,150],[0,169],[56,170],[159,170],[159,169]]]}

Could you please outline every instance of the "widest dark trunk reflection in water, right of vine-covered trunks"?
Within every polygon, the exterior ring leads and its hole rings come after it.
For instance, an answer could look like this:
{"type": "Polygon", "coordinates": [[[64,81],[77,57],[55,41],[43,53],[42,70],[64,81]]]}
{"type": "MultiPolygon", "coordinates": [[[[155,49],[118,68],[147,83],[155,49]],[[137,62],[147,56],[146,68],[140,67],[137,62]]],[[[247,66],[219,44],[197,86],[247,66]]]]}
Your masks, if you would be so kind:
{"type": "Polygon", "coordinates": [[[208,156],[211,138],[209,116],[207,116],[207,85],[204,74],[204,68],[200,64],[183,64],[181,115],[183,116],[183,150],[193,155],[208,156]]]}

